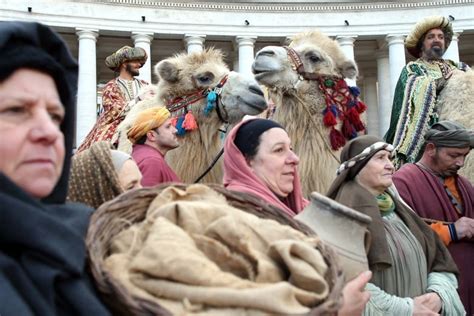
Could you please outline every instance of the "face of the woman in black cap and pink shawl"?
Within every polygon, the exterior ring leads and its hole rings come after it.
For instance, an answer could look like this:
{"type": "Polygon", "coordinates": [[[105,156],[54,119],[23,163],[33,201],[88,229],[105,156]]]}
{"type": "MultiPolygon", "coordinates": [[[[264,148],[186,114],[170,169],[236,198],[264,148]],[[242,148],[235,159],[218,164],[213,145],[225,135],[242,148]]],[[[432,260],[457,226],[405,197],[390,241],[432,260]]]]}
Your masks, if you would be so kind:
{"type": "Polygon", "coordinates": [[[286,197],[293,191],[298,162],[286,131],[271,128],[260,136],[257,154],[248,164],[273,193],[286,197]]]}

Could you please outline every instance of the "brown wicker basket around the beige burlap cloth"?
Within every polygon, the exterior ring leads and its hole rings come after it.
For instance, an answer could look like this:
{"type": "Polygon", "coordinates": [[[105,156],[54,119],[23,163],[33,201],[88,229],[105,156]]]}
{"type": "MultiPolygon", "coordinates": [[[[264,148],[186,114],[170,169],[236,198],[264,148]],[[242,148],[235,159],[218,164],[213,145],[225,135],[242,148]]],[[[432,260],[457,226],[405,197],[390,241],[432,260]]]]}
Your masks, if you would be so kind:
{"type": "MultiPolygon", "coordinates": [[[[186,185],[175,186],[181,189],[187,187],[186,185]]],[[[264,203],[254,196],[229,191],[219,185],[208,186],[224,195],[227,202],[236,208],[258,217],[276,220],[305,234],[314,234],[304,224],[296,222],[278,208],[264,203]]],[[[155,302],[132,296],[122,284],[103,269],[104,259],[109,255],[110,243],[113,237],[126,229],[130,223],[143,221],[149,204],[166,187],[168,185],[127,192],[103,204],[92,215],[86,238],[90,268],[99,292],[114,314],[171,315],[168,310],[155,302]]],[[[325,279],[329,283],[330,293],[323,303],[311,309],[309,315],[335,315],[341,303],[344,277],[333,250],[322,243],[317,248],[329,267],[325,279]]]]}

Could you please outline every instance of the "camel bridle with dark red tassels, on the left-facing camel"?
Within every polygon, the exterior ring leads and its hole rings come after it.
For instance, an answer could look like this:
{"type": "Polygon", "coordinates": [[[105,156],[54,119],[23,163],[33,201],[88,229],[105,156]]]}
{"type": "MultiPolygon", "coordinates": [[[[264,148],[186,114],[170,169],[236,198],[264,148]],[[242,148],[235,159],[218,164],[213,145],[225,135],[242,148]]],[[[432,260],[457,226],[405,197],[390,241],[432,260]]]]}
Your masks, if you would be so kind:
{"type": "Polygon", "coordinates": [[[304,69],[298,53],[291,47],[284,46],[292,68],[299,80],[316,81],[324,94],[326,108],[322,111],[323,123],[330,128],[329,141],[333,150],[343,147],[346,140],[357,137],[357,132],[365,130],[360,114],[367,106],[359,99],[358,87],[349,87],[344,78],[339,76],[318,75],[304,69]],[[340,130],[336,127],[340,125],[340,130]]]}

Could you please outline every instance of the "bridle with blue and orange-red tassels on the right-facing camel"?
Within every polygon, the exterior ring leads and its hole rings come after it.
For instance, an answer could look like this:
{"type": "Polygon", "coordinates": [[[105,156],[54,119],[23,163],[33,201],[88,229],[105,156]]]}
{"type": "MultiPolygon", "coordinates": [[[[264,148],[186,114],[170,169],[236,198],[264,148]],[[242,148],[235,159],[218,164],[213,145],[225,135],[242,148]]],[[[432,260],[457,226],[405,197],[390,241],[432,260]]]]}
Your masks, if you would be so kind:
{"type": "Polygon", "coordinates": [[[217,116],[222,123],[227,123],[228,113],[225,105],[219,100],[222,88],[227,82],[228,76],[225,75],[219,83],[213,88],[201,89],[185,96],[176,97],[168,102],[166,108],[172,116],[172,123],[176,127],[176,135],[183,136],[188,131],[198,128],[196,118],[194,117],[191,105],[206,98],[207,104],[204,108],[204,115],[209,116],[212,110],[216,109],[217,116]]]}

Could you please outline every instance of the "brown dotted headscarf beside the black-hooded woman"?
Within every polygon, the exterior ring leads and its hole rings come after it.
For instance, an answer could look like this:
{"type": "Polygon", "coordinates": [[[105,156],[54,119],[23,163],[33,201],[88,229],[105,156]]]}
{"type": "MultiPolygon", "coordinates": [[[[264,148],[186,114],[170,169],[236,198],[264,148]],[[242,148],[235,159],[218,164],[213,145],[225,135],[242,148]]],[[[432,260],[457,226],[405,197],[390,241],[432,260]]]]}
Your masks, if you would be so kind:
{"type": "Polygon", "coordinates": [[[108,142],[94,143],[72,157],[68,200],[98,208],[123,192],[108,142]]]}

